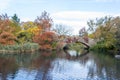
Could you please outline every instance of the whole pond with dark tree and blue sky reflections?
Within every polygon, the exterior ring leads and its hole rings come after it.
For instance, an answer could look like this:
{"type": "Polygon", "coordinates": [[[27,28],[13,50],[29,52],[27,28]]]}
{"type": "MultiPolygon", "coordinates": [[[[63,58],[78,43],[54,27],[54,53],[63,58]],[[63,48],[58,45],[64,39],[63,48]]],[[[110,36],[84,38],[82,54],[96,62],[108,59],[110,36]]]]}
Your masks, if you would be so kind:
{"type": "Polygon", "coordinates": [[[120,60],[75,51],[0,54],[0,80],[120,80],[120,60]]]}

